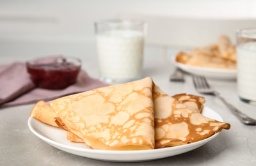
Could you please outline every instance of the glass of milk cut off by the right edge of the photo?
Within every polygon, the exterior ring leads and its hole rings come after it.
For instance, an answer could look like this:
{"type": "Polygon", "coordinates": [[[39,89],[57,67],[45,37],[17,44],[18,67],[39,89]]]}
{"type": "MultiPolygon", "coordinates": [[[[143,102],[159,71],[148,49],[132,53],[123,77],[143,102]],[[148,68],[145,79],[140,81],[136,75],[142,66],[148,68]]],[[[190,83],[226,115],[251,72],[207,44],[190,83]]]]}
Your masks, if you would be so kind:
{"type": "Polygon", "coordinates": [[[238,29],[237,91],[242,101],[256,103],[256,27],[238,29]]]}

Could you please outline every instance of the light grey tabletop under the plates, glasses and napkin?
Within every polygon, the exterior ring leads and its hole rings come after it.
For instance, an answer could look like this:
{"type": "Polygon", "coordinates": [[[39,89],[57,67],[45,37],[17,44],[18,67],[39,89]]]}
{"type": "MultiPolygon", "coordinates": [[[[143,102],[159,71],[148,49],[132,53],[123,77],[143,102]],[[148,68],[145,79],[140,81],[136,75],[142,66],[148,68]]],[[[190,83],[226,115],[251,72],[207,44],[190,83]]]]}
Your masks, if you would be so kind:
{"type": "MultiPolygon", "coordinates": [[[[152,77],[167,94],[198,94],[191,76],[186,82],[170,82],[174,66],[170,56],[177,50],[168,49],[167,56],[158,47],[147,46],[143,77],[152,77]],[[163,53],[163,52],[162,52],[163,53]]],[[[32,57],[64,54],[80,57],[83,68],[91,77],[99,77],[95,43],[83,41],[1,41],[0,64],[26,61],[32,57]]],[[[256,119],[256,106],[243,103],[237,97],[236,80],[212,80],[209,83],[245,114],[256,119]]],[[[1,92],[0,92],[1,93],[1,92]]],[[[214,96],[205,96],[205,106],[220,114],[231,124],[216,139],[188,153],[150,162],[103,162],[72,155],[49,146],[28,128],[28,117],[34,104],[0,109],[0,165],[256,165],[256,126],[246,126],[230,114],[227,107],[214,96]]]]}

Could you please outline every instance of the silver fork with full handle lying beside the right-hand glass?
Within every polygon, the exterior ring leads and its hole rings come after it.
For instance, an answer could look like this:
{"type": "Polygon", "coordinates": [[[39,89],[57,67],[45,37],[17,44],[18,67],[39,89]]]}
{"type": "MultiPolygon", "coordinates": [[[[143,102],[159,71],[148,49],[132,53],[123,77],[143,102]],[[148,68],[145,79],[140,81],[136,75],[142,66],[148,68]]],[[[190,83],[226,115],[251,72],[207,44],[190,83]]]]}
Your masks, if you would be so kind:
{"type": "Polygon", "coordinates": [[[193,83],[194,86],[196,88],[196,91],[198,91],[198,93],[203,93],[203,94],[211,94],[214,96],[217,96],[218,98],[220,98],[222,100],[223,103],[225,103],[225,105],[227,105],[228,109],[231,110],[231,112],[244,124],[248,124],[248,125],[256,125],[256,120],[252,119],[251,117],[246,116],[246,114],[243,114],[242,112],[240,112],[238,109],[236,109],[236,107],[234,107],[234,105],[231,105],[230,103],[228,103],[225,98],[223,98],[220,93],[218,93],[218,91],[215,91],[214,89],[211,88],[211,86],[209,86],[209,84],[207,83],[207,80],[205,79],[204,76],[196,76],[193,75],[193,83]]]}

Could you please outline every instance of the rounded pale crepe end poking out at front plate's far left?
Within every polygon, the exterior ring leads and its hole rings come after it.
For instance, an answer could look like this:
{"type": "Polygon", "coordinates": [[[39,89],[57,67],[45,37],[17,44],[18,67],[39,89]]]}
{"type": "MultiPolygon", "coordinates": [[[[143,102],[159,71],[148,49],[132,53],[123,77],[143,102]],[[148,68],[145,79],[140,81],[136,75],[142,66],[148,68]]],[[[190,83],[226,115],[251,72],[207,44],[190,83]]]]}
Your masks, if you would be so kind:
{"type": "Polygon", "coordinates": [[[57,127],[57,124],[54,122],[55,119],[54,114],[52,113],[51,106],[43,100],[40,100],[36,103],[36,105],[30,112],[30,116],[46,124],[57,127]]]}

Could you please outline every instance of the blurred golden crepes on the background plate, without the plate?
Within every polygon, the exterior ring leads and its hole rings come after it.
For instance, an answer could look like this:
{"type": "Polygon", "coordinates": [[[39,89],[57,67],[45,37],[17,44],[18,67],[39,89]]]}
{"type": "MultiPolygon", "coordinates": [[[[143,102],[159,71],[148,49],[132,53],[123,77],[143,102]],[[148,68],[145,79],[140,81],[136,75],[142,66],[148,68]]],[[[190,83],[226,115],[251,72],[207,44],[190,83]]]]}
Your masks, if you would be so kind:
{"type": "Polygon", "coordinates": [[[195,48],[189,53],[179,52],[176,61],[191,66],[236,70],[236,45],[232,44],[228,36],[221,35],[218,43],[195,48]]]}

